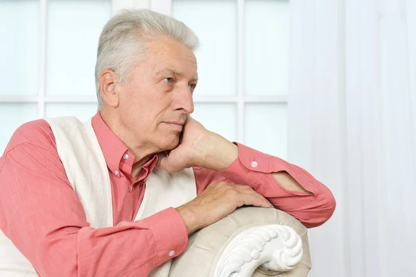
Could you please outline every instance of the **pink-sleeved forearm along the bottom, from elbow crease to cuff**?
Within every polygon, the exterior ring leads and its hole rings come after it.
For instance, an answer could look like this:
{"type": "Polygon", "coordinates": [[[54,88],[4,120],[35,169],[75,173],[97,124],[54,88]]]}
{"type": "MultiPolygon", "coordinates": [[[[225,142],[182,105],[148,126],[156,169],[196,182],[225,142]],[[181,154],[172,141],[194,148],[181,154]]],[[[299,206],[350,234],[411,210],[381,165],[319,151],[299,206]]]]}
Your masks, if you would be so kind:
{"type": "Polygon", "coordinates": [[[83,228],[77,241],[78,276],[148,276],[186,247],[187,231],[173,208],[135,223],[83,228]]]}

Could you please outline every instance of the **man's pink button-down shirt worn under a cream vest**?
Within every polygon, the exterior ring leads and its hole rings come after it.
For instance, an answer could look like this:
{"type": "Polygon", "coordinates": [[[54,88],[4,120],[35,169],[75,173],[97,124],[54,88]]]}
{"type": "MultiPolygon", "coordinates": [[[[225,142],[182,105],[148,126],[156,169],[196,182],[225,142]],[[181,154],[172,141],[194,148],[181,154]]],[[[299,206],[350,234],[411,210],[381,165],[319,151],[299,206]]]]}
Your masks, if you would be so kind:
{"type": "MultiPolygon", "coordinates": [[[[133,221],[157,156],[150,158],[133,182],[135,157],[99,113],[92,126],[110,174],[114,226],[89,226],[51,128],[40,119],[20,126],[0,158],[0,229],[40,276],[147,276],[186,249],[187,229],[175,208],[133,221]],[[172,250],[175,255],[170,257],[172,250]]],[[[224,171],[193,168],[198,194],[214,181],[228,181],[250,185],[306,227],[319,226],[331,217],[335,200],[311,174],[277,157],[238,146],[239,158],[224,171]],[[255,168],[251,166],[254,160],[255,168]],[[313,194],[284,190],[270,174],[277,171],[287,171],[313,194]]]]}

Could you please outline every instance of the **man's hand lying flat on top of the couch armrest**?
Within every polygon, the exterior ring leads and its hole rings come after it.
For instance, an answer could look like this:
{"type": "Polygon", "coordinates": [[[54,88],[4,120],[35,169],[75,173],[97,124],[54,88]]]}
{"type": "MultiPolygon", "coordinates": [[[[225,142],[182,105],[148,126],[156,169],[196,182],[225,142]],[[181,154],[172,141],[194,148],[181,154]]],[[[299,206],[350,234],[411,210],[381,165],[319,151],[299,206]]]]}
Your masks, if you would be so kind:
{"type": "Polygon", "coordinates": [[[211,183],[196,199],[176,208],[188,234],[205,228],[231,214],[242,205],[272,208],[273,205],[248,185],[211,183]]]}

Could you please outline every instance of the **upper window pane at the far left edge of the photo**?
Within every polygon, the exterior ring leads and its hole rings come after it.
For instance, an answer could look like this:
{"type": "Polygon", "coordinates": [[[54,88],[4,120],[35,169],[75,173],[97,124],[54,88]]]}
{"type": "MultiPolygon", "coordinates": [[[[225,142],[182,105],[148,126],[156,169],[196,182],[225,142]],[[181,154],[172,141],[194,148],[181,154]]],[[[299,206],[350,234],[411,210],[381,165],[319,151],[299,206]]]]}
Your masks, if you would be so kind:
{"type": "Polygon", "coordinates": [[[0,96],[37,94],[39,19],[39,1],[0,1],[0,96]]]}

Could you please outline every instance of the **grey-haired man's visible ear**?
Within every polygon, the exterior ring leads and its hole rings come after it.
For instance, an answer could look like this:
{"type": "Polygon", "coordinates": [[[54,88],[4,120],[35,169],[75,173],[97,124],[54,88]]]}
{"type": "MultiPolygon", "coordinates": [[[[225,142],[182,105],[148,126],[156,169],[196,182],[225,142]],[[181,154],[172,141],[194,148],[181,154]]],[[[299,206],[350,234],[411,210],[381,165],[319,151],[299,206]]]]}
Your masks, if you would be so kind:
{"type": "Polygon", "coordinates": [[[100,74],[100,90],[105,105],[119,106],[119,78],[112,70],[106,69],[100,74]]]}

